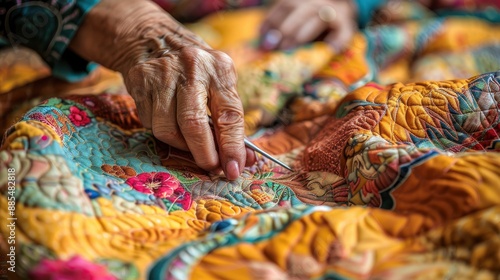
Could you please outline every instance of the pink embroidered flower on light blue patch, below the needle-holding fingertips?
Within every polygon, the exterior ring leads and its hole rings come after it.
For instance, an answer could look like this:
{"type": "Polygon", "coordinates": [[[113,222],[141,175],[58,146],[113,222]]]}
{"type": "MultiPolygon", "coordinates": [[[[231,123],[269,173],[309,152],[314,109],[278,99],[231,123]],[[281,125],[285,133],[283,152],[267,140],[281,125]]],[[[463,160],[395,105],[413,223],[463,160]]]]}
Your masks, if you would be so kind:
{"type": "Polygon", "coordinates": [[[180,187],[180,182],[166,172],[141,173],[128,178],[126,183],[137,191],[153,194],[158,198],[168,198],[180,187]]]}

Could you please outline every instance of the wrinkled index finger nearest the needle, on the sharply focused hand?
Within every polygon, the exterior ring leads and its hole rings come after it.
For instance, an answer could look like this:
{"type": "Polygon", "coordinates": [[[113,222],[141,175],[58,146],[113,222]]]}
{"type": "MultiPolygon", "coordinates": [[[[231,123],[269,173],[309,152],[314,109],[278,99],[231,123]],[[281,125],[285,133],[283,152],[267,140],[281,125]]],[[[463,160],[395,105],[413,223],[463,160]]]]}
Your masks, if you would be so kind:
{"type": "Polygon", "coordinates": [[[219,146],[221,167],[229,180],[236,179],[246,164],[243,105],[236,91],[236,71],[231,58],[211,52],[217,61],[209,92],[215,136],[219,146]]]}

